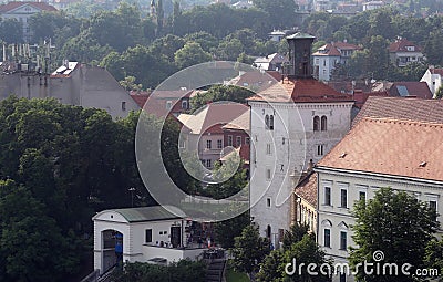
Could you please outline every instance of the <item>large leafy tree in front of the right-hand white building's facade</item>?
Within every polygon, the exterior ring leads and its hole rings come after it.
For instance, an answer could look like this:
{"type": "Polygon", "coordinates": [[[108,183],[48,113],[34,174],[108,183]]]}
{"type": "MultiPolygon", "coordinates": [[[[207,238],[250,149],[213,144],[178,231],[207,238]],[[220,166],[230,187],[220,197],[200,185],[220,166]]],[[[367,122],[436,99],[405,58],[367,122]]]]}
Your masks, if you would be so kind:
{"type": "MultiPolygon", "coordinates": [[[[413,269],[425,265],[425,248],[439,226],[436,212],[426,203],[419,202],[405,191],[382,188],[369,202],[359,201],[352,213],[356,217],[352,238],[358,246],[351,248],[349,257],[353,267],[363,261],[373,263],[375,251],[384,253],[383,263],[400,267],[410,263],[413,269]]],[[[411,273],[414,273],[413,269],[411,273]]],[[[360,269],[357,278],[364,281],[414,281],[400,272],[399,275],[380,276],[360,269]]]]}

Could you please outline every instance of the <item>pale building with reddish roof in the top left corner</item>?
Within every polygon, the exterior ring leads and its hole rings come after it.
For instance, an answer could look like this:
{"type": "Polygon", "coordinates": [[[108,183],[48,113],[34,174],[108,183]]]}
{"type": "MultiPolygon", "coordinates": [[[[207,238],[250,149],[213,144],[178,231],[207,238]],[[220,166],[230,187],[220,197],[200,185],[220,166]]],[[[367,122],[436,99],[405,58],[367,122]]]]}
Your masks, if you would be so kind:
{"type": "Polygon", "coordinates": [[[56,9],[53,6],[40,1],[11,1],[0,6],[0,15],[2,19],[16,19],[22,24],[24,42],[30,42],[32,35],[29,27],[29,19],[33,14],[43,11],[54,12],[56,9]]]}

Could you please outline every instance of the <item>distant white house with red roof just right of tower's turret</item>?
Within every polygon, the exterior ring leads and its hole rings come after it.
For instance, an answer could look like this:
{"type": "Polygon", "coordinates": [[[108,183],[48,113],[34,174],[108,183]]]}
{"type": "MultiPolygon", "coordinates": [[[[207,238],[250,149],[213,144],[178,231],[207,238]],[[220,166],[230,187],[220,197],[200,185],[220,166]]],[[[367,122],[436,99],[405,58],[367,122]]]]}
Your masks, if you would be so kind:
{"type": "Polygon", "coordinates": [[[313,75],[320,81],[330,81],[332,71],[339,65],[346,65],[360,46],[347,42],[332,42],[322,45],[312,54],[313,75]]]}

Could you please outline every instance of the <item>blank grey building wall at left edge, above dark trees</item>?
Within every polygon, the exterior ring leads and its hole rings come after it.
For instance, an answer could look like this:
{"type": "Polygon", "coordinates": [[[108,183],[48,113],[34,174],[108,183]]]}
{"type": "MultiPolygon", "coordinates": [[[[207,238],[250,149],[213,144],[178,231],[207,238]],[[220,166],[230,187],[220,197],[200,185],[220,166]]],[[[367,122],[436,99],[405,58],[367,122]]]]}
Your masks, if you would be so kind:
{"type": "Polygon", "coordinates": [[[138,105],[119,82],[99,66],[82,65],[70,76],[48,76],[37,73],[0,75],[0,100],[18,97],[54,97],[63,104],[105,109],[113,118],[125,117],[138,105]]]}

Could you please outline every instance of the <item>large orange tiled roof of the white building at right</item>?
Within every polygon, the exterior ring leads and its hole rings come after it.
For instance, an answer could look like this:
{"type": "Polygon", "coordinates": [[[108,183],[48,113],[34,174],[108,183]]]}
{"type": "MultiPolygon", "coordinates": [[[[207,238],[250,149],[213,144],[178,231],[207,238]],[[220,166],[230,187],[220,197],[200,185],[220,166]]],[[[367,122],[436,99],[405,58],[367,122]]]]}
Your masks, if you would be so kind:
{"type": "Polygon", "coordinates": [[[442,123],[363,118],[318,167],[443,181],[442,136],[442,123]]]}

